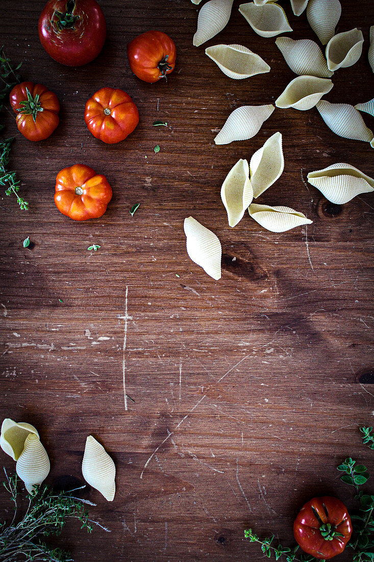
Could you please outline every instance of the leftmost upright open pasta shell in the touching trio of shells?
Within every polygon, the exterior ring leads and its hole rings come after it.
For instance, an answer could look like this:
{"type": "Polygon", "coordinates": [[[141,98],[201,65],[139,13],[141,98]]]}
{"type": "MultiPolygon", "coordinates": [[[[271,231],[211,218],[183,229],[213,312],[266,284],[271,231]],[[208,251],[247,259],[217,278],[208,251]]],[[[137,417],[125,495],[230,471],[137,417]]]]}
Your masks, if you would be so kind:
{"type": "Polygon", "coordinates": [[[247,160],[240,159],[232,166],[221,188],[221,199],[227,211],[229,225],[235,226],[243,219],[245,209],[253,199],[247,160]]]}

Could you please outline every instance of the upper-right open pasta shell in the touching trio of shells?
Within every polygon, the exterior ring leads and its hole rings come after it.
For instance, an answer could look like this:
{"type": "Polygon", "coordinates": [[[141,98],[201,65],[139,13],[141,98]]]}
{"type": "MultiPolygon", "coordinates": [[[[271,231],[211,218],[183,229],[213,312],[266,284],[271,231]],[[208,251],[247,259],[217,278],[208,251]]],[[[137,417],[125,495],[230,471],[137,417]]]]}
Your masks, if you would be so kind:
{"type": "Polygon", "coordinates": [[[249,168],[253,197],[257,198],[276,182],[284,169],[281,133],[273,134],[254,153],[250,159],[249,168]]]}

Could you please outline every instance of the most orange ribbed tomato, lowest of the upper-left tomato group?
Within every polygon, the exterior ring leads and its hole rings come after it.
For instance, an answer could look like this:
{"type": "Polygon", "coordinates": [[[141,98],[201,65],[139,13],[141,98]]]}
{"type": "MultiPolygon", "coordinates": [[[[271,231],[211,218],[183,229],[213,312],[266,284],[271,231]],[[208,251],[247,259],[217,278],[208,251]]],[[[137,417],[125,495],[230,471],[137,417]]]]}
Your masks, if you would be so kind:
{"type": "Polygon", "coordinates": [[[71,219],[102,216],[111,198],[112,188],[107,178],[89,166],[75,164],[57,174],[54,202],[57,209],[71,219]]]}

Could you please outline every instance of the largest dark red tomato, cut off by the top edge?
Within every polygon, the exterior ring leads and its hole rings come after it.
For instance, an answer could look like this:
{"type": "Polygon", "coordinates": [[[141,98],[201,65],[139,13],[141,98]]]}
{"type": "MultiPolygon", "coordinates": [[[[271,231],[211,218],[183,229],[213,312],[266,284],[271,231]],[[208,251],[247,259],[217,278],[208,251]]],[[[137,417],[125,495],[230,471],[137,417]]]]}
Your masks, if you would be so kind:
{"type": "Polygon", "coordinates": [[[40,42],[55,61],[82,66],[103,48],[107,24],[95,0],[49,0],[40,14],[38,30],[40,42]]]}

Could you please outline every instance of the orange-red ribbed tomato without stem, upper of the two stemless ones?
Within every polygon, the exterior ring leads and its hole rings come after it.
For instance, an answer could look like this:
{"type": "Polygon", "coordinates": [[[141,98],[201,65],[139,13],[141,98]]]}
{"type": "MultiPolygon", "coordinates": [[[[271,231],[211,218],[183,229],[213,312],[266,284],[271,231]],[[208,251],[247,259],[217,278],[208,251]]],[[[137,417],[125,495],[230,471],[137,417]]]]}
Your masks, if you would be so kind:
{"type": "Polygon", "coordinates": [[[84,120],[94,137],[113,144],[133,132],[139,123],[139,113],[124,90],[102,88],[86,103],[84,120]]]}

